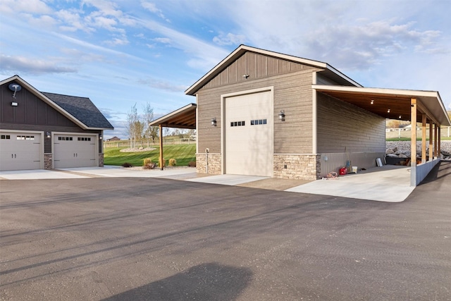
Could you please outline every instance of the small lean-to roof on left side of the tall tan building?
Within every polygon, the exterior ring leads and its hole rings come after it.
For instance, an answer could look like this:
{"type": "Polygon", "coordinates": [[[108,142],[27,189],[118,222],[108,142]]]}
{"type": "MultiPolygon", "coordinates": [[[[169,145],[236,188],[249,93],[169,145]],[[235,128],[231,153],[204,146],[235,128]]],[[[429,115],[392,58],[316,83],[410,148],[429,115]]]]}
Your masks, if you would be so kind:
{"type": "Polygon", "coordinates": [[[196,128],[196,104],[188,104],[149,123],[150,126],[161,125],[166,128],[196,128]]]}

